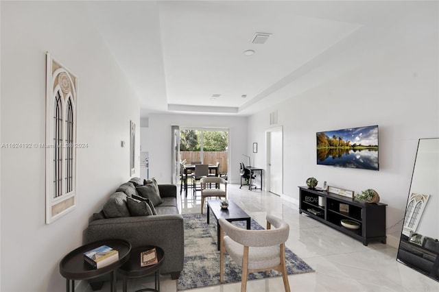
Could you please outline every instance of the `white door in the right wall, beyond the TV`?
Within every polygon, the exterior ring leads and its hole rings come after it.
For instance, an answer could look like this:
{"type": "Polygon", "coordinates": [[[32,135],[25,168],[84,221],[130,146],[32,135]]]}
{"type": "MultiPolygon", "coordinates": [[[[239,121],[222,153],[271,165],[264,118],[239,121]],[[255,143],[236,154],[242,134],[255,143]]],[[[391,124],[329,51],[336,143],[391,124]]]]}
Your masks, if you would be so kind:
{"type": "Polygon", "coordinates": [[[283,132],[281,127],[267,131],[268,191],[283,193],[283,132]]]}

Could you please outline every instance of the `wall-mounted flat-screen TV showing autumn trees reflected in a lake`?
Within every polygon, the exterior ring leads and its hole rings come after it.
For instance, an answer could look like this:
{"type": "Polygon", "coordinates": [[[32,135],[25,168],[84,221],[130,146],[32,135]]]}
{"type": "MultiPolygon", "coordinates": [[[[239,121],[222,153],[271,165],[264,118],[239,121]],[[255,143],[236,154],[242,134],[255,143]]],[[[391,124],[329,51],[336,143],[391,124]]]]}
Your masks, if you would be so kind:
{"type": "Polygon", "coordinates": [[[378,125],[317,132],[317,164],[379,170],[378,125]]]}

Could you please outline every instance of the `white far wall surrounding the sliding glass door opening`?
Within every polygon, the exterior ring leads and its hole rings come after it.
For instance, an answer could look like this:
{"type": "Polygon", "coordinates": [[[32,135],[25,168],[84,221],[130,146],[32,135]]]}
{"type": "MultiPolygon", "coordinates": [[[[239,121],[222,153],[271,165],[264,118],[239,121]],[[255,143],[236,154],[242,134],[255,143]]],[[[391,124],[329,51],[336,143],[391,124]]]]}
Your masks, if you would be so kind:
{"type": "Polygon", "coordinates": [[[239,182],[239,162],[248,153],[247,118],[195,114],[150,114],[150,178],[171,182],[171,125],[180,127],[222,127],[229,129],[229,181],[239,182]]]}

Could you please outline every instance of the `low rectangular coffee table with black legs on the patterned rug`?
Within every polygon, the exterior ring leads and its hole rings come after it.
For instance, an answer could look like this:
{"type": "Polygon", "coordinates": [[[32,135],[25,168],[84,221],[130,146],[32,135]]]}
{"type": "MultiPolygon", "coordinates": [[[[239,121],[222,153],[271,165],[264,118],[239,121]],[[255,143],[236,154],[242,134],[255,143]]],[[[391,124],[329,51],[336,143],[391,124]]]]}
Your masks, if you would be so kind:
{"type": "Polygon", "coordinates": [[[232,221],[246,221],[247,229],[250,230],[250,215],[248,215],[244,210],[242,210],[237,204],[228,200],[228,208],[221,208],[221,200],[219,199],[211,199],[207,201],[207,223],[209,224],[209,219],[211,212],[217,219],[217,246],[219,250],[219,230],[221,226],[219,226],[218,220],[219,218],[224,218],[229,222],[232,221]]]}

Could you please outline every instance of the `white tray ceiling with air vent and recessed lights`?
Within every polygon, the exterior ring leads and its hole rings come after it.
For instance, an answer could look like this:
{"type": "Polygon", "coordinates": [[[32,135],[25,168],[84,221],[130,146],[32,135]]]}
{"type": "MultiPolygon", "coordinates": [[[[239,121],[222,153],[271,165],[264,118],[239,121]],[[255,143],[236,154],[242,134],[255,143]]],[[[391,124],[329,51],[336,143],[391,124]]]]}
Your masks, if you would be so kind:
{"type": "Polygon", "coordinates": [[[139,96],[142,117],[252,114],[438,34],[438,1],[89,1],[85,7],[139,96]],[[257,32],[272,36],[252,44],[257,32]],[[248,49],[256,53],[245,56],[248,49]]]}

